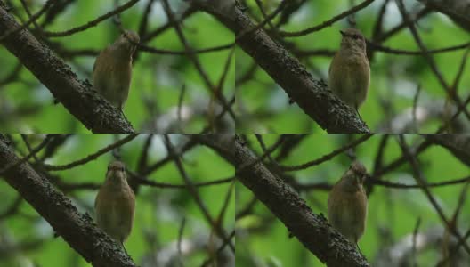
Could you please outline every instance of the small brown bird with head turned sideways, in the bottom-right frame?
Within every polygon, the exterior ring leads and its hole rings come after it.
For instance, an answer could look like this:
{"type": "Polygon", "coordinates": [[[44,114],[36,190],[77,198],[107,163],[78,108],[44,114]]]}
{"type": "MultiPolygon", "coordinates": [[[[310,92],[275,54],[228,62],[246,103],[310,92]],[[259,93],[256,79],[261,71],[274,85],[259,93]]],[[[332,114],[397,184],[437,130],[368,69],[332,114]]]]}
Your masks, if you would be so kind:
{"type": "Polygon", "coordinates": [[[353,244],[361,239],[366,227],[368,201],[362,187],[366,177],[366,167],[353,162],[328,197],[329,223],[353,244]]]}

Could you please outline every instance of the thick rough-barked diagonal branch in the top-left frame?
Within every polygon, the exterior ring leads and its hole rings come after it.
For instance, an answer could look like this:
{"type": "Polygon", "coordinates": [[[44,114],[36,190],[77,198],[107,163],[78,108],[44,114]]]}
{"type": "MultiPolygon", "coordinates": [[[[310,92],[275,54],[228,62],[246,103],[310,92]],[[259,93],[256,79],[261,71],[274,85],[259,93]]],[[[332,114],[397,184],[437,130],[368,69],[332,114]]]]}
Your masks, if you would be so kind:
{"type": "MultiPolygon", "coordinates": [[[[0,2],[0,33],[20,28],[0,2]]],[[[133,133],[133,126],[121,112],[105,101],[88,82],[77,75],[28,29],[7,36],[1,42],[93,133],[133,133]]]]}

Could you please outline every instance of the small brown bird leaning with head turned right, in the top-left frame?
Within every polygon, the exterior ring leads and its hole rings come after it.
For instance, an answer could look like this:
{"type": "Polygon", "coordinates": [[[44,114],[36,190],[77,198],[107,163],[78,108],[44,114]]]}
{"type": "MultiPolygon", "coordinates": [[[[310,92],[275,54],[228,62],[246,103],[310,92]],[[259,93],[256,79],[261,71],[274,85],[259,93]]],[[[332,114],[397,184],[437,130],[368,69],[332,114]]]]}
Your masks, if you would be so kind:
{"type": "Polygon", "coordinates": [[[93,88],[121,111],[131,85],[136,49],[133,42],[139,43],[140,38],[134,31],[127,30],[114,44],[101,51],[93,65],[93,88]]]}

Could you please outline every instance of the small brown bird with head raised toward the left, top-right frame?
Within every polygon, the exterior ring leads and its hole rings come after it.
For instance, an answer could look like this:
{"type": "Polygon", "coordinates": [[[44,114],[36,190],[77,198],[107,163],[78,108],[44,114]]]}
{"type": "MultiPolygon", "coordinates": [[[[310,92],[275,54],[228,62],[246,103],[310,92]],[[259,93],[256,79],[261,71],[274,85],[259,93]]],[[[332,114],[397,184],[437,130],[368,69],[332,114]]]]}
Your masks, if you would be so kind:
{"type": "Polygon", "coordinates": [[[359,114],[370,83],[366,39],[355,28],[347,28],[340,33],[343,36],[341,47],[329,65],[328,85],[333,93],[359,114]]]}

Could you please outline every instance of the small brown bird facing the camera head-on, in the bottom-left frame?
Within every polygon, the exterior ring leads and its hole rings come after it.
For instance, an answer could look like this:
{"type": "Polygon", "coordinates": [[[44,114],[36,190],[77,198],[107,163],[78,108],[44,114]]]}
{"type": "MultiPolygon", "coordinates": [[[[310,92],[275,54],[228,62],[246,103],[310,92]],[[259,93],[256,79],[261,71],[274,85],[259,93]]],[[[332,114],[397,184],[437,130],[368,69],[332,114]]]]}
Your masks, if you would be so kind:
{"type": "Polygon", "coordinates": [[[127,184],[126,166],[111,162],[98,195],[94,201],[96,223],[124,247],[134,222],[135,196],[127,184]]]}

